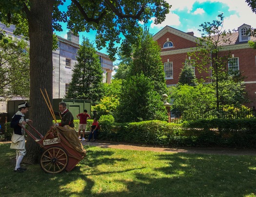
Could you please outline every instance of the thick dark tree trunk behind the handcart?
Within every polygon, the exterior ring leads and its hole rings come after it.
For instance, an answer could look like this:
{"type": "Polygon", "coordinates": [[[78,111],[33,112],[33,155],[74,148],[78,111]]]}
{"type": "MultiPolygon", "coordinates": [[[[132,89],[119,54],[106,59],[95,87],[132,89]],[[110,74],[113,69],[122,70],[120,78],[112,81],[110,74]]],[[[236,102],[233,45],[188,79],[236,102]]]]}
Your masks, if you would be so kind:
{"type": "MultiPolygon", "coordinates": [[[[52,13],[54,0],[30,0],[30,12],[27,13],[30,40],[30,105],[29,119],[42,134],[50,129],[52,117],[40,93],[47,90],[52,102],[53,63],[52,63],[52,13]]],[[[31,130],[30,130],[31,131],[31,130]]],[[[38,137],[33,131],[32,133],[38,137]]],[[[38,163],[42,148],[31,138],[27,138],[26,163],[38,163]]]]}

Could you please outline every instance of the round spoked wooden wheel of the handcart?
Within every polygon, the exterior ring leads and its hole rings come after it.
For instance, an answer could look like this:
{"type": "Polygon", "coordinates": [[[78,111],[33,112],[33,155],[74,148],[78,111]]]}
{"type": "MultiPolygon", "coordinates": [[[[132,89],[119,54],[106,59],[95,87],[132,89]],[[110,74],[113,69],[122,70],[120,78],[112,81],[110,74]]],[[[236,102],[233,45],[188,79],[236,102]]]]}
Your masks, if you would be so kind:
{"type": "Polygon", "coordinates": [[[68,155],[63,148],[51,147],[47,148],[40,160],[40,166],[43,171],[56,174],[62,172],[68,164],[68,155]]]}

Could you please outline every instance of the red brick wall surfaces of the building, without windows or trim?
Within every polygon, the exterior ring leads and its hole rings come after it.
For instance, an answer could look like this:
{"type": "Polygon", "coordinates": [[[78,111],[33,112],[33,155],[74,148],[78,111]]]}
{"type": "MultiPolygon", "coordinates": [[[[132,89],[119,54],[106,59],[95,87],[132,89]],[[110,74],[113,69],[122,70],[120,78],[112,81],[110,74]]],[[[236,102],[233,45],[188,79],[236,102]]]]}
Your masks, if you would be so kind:
{"type": "MultiPolygon", "coordinates": [[[[190,49],[196,47],[196,42],[192,42],[185,38],[179,37],[172,33],[165,33],[162,37],[157,40],[159,46],[161,47],[161,51],[175,51],[177,49],[190,49]],[[174,48],[162,49],[163,44],[167,41],[173,42],[174,48]]],[[[236,45],[239,46],[239,45],[236,45]]],[[[239,70],[242,72],[242,75],[246,76],[246,91],[248,92],[248,97],[252,101],[249,104],[246,104],[249,107],[256,107],[256,50],[255,49],[235,49],[220,52],[220,55],[234,54],[234,57],[238,57],[239,59],[239,70]]],[[[179,53],[172,55],[163,55],[161,56],[162,62],[173,62],[173,79],[166,80],[167,85],[175,85],[178,82],[179,74],[181,68],[184,65],[185,59],[188,58],[187,53],[179,53]]],[[[206,80],[206,77],[210,75],[210,73],[199,73],[196,69],[195,71],[196,77],[203,77],[206,80]]],[[[210,82],[209,80],[207,82],[210,82]]]]}

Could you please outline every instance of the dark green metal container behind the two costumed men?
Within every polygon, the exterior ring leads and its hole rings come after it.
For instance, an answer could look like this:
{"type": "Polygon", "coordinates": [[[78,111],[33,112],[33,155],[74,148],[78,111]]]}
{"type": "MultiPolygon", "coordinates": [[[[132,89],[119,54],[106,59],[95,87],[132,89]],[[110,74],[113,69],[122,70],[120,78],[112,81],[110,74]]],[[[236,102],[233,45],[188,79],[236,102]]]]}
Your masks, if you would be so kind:
{"type": "MultiPolygon", "coordinates": [[[[88,114],[91,115],[91,100],[81,100],[81,99],[53,99],[53,110],[59,112],[59,102],[65,102],[67,104],[67,109],[72,113],[74,119],[78,119],[77,115],[83,113],[83,110],[87,110],[88,114]]],[[[7,122],[12,120],[13,115],[19,110],[18,105],[24,102],[24,100],[8,100],[7,102],[7,122]]],[[[29,101],[28,101],[29,102],[29,101]]],[[[40,109],[39,109],[40,110],[40,109]]],[[[28,118],[29,111],[25,114],[24,118],[28,118]]],[[[59,116],[56,116],[59,119],[59,116]]]]}

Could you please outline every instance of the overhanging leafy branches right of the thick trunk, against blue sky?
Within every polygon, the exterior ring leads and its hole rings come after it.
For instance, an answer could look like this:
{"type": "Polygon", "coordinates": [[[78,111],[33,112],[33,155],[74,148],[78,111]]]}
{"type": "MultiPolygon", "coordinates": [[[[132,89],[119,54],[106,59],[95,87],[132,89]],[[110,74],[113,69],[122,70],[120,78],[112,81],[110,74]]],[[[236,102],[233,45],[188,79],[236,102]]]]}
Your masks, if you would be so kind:
{"type": "Polygon", "coordinates": [[[155,24],[159,24],[170,7],[165,0],[72,0],[66,18],[68,28],[74,33],[96,30],[97,48],[107,47],[110,57],[114,58],[117,52],[115,43],[120,43],[120,34],[125,37],[125,50],[129,51],[129,46],[138,42],[138,35],[142,32],[138,21],[147,23],[155,16],[155,24]]]}

